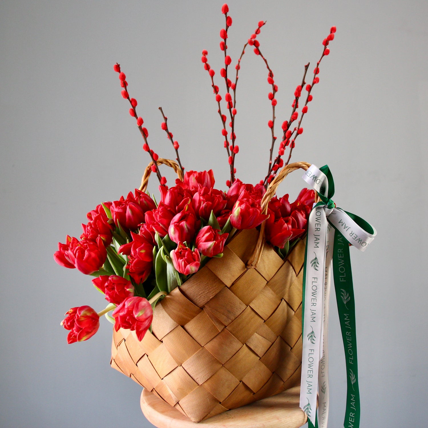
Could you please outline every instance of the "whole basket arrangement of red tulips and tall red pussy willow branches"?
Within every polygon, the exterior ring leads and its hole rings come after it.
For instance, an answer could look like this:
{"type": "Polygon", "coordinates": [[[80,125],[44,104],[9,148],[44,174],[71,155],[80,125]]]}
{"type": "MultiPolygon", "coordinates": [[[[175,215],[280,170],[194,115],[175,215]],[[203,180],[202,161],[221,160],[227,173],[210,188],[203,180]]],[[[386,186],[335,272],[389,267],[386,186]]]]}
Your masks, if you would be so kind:
{"type": "MultiPolygon", "coordinates": [[[[321,220],[316,208],[312,209],[314,203],[319,211],[327,213],[331,224],[334,222],[330,221],[333,217],[330,214],[336,210],[331,201],[334,187],[330,184],[333,179],[330,180],[328,167],[318,170],[309,163],[290,163],[296,139],[303,133],[301,123],[312,101],[312,90],[319,82],[320,62],[330,52],[328,46],[336,27],[331,28],[322,43],[321,58],[309,83],[306,83],[309,63],[305,65],[301,83],[294,91],[290,117],[282,122],[281,142],[275,148],[278,86],[258,39],[265,22],[258,23],[232,71],[232,59],[227,54],[228,31],[232,26],[228,12],[228,6],[223,5],[226,26],[220,31],[220,49],[224,53],[220,76],[226,86],[224,101],[214,83],[215,72],[208,64],[208,52],[202,51],[230,168],[228,190],[215,187],[212,169],[185,171],[178,153],[179,144],[169,130],[162,108],[161,128],[172,143],[176,161],[159,158],[149,146],[149,132],[137,114],[137,100],[131,98],[126,76],[116,64],[114,70],[119,74],[122,97],[130,103],[129,113],[137,122],[144,140],[143,150],[151,162],[139,189],[126,198],[103,202],[89,211],[80,240],[67,236],[65,244],[59,243],[54,254],[59,265],[93,276],[93,285],[108,302],[98,313],[89,306],[80,306],[65,314],[61,324],[69,330],[68,343],[92,337],[98,330],[99,318],[105,315],[114,324],[111,366],[193,422],[303,382],[302,355],[304,359],[308,343],[310,348],[318,347],[319,354],[323,342],[322,321],[318,319],[318,324],[310,327],[312,331],[303,327],[302,336],[302,318],[322,317],[325,307],[321,303],[323,293],[327,292],[324,269],[326,272],[330,269],[328,252],[326,258],[325,251],[317,255],[315,250],[313,258],[313,248],[308,249],[308,244],[306,258],[311,260],[304,263],[308,227],[309,233],[313,232],[309,216],[316,215],[312,223],[319,233],[321,220]],[[272,119],[268,121],[271,133],[268,173],[256,185],[244,184],[236,178],[235,168],[239,153],[235,134],[236,91],[241,60],[250,47],[267,67],[271,88],[268,99],[272,107],[272,119]],[[178,175],[174,186],[167,186],[160,172],[162,165],[173,168],[178,175]],[[285,176],[296,169],[306,171],[306,181],[318,193],[305,188],[290,203],[287,194],[279,198],[275,192],[285,176]],[[152,173],[160,182],[159,202],[146,192],[152,173]],[[302,284],[305,289],[309,264],[311,269],[322,272],[322,285],[316,295],[311,279],[310,308],[305,302],[302,304],[302,284]],[[312,314],[306,314],[307,310],[312,314]]],[[[353,220],[357,221],[355,217],[353,220]]],[[[326,247],[330,226],[328,234],[327,222],[324,226],[324,241],[315,240],[315,249],[320,243],[326,247]]],[[[340,226],[333,226],[339,231],[340,226]]],[[[344,304],[349,304],[351,294],[342,289],[344,304]]],[[[308,364],[309,371],[313,371],[310,378],[317,373],[318,361],[314,357],[312,353],[309,362],[303,361],[305,375],[308,364]]],[[[321,358],[324,354],[318,360],[321,358]]],[[[355,379],[356,370],[353,373],[355,379]]],[[[311,387],[316,401],[315,381],[311,387]]],[[[324,399],[325,382],[320,388],[324,399]]],[[[317,423],[313,416],[316,402],[314,405],[311,397],[306,404],[306,398],[301,398],[301,407],[310,421],[317,423]]]]}

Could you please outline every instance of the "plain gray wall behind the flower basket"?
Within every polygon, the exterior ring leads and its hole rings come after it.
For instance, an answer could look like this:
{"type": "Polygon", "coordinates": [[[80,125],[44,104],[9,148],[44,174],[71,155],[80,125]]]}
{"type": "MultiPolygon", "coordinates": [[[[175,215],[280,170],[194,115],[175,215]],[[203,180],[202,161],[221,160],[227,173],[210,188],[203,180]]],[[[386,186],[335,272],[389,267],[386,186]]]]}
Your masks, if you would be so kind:
{"type": "MultiPolygon", "coordinates": [[[[101,310],[104,301],[89,277],[60,268],[52,254],[67,233],[80,235],[87,211],[137,187],[148,163],[116,61],[156,151],[173,156],[162,106],[184,166],[213,168],[225,187],[221,127],[200,62],[208,49],[220,83],[221,4],[0,3],[2,427],[151,426],[140,387],[110,369],[111,324],[67,345],[62,314],[83,304],[101,310]]],[[[337,26],[293,159],[328,163],[338,205],[378,231],[366,253],[352,251],[361,425],[426,426],[427,3],[231,0],[229,7],[232,64],[257,22],[268,21],[260,42],[279,86],[279,124],[303,65],[314,68],[322,39],[337,26]]],[[[253,183],[265,173],[270,144],[266,77],[249,50],[238,86],[237,169],[253,183]]],[[[294,198],[301,187],[294,174],[281,193],[294,198]]],[[[330,426],[339,427],[346,375],[332,306],[330,426]]]]}

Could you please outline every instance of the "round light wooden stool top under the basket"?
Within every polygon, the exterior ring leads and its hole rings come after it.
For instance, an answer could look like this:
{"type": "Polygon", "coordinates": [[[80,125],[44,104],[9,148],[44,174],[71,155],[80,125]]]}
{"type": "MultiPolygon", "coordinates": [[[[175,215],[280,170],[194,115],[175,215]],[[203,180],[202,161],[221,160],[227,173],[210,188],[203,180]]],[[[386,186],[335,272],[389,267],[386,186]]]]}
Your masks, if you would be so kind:
{"type": "Polygon", "coordinates": [[[299,408],[300,386],[264,398],[238,409],[228,410],[205,421],[195,423],[174,407],[146,389],[141,393],[141,410],[158,428],[298,428],[306,423],[306,415],[299,408]]]}

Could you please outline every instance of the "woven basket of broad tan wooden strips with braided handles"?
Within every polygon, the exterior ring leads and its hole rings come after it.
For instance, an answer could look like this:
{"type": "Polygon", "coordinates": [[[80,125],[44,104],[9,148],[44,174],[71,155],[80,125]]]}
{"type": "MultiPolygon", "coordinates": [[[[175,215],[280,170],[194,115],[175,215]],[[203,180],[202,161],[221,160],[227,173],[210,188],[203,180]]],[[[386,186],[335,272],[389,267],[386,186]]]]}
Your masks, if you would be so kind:
{"type": "MultiPolygon", "coordinates": [[[[309,165],[282,169],[262,200],[265,212],[285,176],[309,165]]],[[[111,366],[193,422],[299,385],[304,254],[303,239],[282,260],[265,242],[264,224],[235,234],[222,258],[158,303],[141,342],[134,331],[113,332],[111,366]]]]}

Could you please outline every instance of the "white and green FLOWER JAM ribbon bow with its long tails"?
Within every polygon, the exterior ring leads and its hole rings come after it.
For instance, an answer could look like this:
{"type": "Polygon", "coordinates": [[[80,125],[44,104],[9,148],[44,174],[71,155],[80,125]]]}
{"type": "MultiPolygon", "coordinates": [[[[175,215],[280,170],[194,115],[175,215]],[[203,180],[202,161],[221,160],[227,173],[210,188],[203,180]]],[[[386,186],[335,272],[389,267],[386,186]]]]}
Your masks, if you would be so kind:
{"type": "Polygon", "coordinates": [[[345,348],[348,379],[345,427],[360,426],[355,303],[349,245],[364,251],[376,236],[375,229],[362,218],[336,208],[331,199],[334,181],[327,165],[311,165],[303,180],[312,185],[321,201],[309,214],[303,268],[302,377],[300,407],[308,416],[309,428],[327,428],[328,385],[328,309],[331,265],[345,348]],[[317,416],[317,392],[319,407],[317,416]]]}

